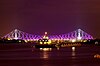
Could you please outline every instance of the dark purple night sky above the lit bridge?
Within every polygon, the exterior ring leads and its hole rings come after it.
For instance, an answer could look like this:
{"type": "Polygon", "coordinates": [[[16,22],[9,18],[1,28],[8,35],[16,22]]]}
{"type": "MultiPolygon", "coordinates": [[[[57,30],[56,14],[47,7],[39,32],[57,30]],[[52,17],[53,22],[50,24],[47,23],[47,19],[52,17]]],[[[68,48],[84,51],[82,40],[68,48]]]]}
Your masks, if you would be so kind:
{"type": "Polygon", "coordinates": [[[15,28],[64,34],[78,28],[100,37],[100,0],[0,0],[0,36],[15,28]]]}

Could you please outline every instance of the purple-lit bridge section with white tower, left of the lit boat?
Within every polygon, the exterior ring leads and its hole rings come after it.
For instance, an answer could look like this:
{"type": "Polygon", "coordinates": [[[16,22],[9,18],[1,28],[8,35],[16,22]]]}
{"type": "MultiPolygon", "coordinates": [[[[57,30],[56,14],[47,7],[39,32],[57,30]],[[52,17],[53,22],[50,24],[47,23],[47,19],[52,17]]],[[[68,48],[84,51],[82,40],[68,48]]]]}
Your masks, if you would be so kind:
{"type": "Polygon", "coordinates": [[[34,34],[29,34],[23,31],[20,31],[18,29],[15,29],[14,31],[8,33],[7,35],[5,35],[3,38],[12,40],[12,39],[22,39],[22,40],[28,40],[28,41],[32,41],[32,40],[38,40],[41,39],[41,36],[39,35],[34,35],[34,34]]]}

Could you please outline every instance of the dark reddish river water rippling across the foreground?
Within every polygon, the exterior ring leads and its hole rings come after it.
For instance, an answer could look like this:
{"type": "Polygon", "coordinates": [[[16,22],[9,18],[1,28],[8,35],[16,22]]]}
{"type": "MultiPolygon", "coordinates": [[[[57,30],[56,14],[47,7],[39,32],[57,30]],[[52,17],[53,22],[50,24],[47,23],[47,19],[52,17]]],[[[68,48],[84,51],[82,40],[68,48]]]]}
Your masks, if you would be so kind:
{"type": "Polygon", "coordinates": [[[100,66],[100,46],[34,48],[0,45],[0,66],[100,66]]]}

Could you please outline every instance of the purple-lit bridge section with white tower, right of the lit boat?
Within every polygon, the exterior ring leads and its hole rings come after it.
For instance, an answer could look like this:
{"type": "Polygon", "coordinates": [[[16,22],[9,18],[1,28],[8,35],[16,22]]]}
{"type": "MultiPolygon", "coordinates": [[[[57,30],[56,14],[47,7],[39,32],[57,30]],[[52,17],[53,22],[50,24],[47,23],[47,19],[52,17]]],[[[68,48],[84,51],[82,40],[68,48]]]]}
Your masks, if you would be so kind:
{"type": "Polygon", "coordinates": [[[93,37],[86,32],[84,32],[81,29],[75,30],[73,32],[67,33],[67,34],[61,34],[61,35],[51,35],[49,36],[50,39],[61,39],[61,40],[88,40],[93,39],[93,37]]]}

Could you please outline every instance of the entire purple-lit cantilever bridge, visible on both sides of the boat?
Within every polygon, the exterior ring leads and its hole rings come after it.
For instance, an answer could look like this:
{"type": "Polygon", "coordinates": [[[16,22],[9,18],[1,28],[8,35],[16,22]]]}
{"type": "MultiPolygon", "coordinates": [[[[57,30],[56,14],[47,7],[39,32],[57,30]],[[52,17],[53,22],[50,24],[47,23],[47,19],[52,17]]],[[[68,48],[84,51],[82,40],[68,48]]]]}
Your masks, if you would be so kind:
{"type": "MultiPolygon", "coordinates": [[[[22,40],[38,40],[42,39],[43,36],[41,35],[34,35],[29,34],[23,31],[20,31],[18,29],[15,29],[14,31],[8,33],[3,38],[9,38],[9,39],[22,39],[22,40]]],[[[81,29],[75,30],[73,32],[67,33],[67,34],[61,34],[61,35],[48,35],[49,39],[51,40],[71,40],[71,39],[93,39],[93,37],[86,32],[84,32],[81,29]]]]}

